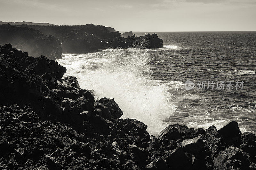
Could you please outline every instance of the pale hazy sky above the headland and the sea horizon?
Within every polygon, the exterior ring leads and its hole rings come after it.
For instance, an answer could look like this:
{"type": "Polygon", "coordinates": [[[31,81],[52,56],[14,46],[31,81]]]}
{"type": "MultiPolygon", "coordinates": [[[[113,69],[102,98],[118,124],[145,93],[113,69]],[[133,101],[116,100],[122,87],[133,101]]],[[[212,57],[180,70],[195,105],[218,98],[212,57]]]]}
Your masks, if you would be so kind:
{"type": "Polygon", "coordinates": [[[0,0],[0,21],[118,31],[256,31],[256,0],[0,0]]]}

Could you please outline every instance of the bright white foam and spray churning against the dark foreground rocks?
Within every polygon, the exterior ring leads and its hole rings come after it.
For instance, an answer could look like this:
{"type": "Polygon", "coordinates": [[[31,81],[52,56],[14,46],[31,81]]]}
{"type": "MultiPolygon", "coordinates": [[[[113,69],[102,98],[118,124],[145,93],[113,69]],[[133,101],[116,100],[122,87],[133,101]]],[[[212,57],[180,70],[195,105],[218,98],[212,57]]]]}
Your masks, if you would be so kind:
{"type": "Polygon", "coordinates": [[[147,50],[107,49],[90,54],[64,54],[58,62],[67,74],[76,76],[81,88],[93,89],[99,98],[114,98],[123,110],[122,118],[135,118],[156,135],[173,114],[168,86],[152,80],[147,50]]]}

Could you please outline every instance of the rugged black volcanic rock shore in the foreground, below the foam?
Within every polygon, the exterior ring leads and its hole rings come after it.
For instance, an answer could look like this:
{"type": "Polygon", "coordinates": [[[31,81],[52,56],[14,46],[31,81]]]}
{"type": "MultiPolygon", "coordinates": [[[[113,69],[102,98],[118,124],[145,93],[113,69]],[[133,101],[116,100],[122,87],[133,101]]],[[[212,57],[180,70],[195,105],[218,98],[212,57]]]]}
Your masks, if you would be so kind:
{"type": "Polygon", "coordinates": [[[256,137],[235,121],[219,130],[173,124],[150,136],[54,60],[6,44],[0,70],[0,169],[256,169],[256,137]]]}

